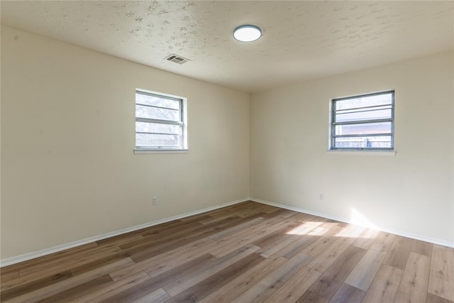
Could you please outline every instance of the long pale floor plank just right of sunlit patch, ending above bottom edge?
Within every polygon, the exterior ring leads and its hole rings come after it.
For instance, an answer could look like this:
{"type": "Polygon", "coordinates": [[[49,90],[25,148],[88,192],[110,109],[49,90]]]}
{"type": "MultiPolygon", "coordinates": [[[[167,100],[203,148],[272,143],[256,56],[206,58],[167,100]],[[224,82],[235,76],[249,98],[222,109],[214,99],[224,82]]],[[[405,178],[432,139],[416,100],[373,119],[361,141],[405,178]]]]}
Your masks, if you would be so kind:
{"type": "Polygon", "coordinates": [[[380,233],[372,246],[370,246],[370,249],[362,256],[361,260],[350,272],[350,275],[345,279],[345,283],[367,291],[395,238],[396,236],[390,233],[380,233]]]}

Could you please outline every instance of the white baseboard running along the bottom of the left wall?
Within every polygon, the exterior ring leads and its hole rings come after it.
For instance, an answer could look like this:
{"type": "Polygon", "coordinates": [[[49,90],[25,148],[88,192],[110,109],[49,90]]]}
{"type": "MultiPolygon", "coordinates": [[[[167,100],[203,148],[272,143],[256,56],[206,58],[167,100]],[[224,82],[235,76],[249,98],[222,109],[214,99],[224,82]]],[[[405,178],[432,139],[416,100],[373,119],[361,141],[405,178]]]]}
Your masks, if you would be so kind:
{"type": "Polygon", "coordinates": [[[119,236],[119,235],[122,235],[123,233],[130,233],[131,231],[138,231],[139,229],[142,229],[142,228],[147,228],[147,227],[150,227],[150,226],[155,226],[157,224],[162,224],[162,223],[166,223],[166,222],[169,222],[169,221],[174,221],[174,220],[186,218],[187,216],[194,216],[196,214],[201,214],[201,213],[204,213],[206,211],[212,211],[214,209],[220,209],[222,207],[226,207],[226,206],[230,206],[230,205],[233,205],[233,204],[238,204],[238,203],[246,202],[246,201],[249,201],[249,198],[239,199],[239,200],[236,200],[236,201],[231,201],[231,202],[227,202],[227,203],[224,203],[224,204],[219,204],[219,205],[216,205],[216,206],[210,206],[210,207],[206,207],[204,209],[191,211],[191,212],[188,212],[186,214],[179,214],[177,216],[171,216],[169,218],[160,219],[160,220],[156,220],[156,221],[145,223],[145,224],[140,224],[140,225],[136,225],[136,226],[132,226],[132,227],[128,227],[128,228],[123,228],[123,229],[121,229],[119,231],[111,231],[109,233],[104,233],[104,234],[99,235],[99,236],[93,236],[93,237],[90,237],[90,238],[84,238],[82,240],[74,241],[74,242],[71,242],[71,243],[66,243],[66,244],[62,244],[62,245],[59,245],[59,246],[53,246],[53,247],[50,247],[50,248],[45,248],[45,249],[42,249],[42,250],[33,251],[31,253],[18,255],[16,257],[6,258],[6,259],[3,259],[3,260],[0,260],[0,268],[3,268],[4,266],[8,266],[8,265],[13,265],[13,264],[16,264],[16,263],[21,263],[23,261],[39,258],[39,257],[42,257],[43,255],[50,255],[51,253],[58,253],[59,251],[62,251],[62,250],[67,250],[67,249],[74,248],[74,247],[77,247],[77,246],[82,246],[84,244],[92,243],[92,242],[95,242],[95,241],[100,241],[100,240],[103,240],[105,238],[111,238],[111,237],[114,237],[114,236],[119,236]]]}

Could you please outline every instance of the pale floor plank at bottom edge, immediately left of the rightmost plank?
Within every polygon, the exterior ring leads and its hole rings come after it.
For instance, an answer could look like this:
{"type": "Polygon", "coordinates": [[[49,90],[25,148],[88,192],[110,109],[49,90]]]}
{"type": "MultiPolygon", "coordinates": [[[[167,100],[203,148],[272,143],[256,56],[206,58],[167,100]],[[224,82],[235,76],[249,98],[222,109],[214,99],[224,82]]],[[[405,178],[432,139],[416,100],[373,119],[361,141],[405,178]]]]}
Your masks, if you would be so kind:
{"type": "Polygon", "coordinates": [[[396,302],[426,302],[431,258],[410,253],[397,290],[396,302]]]}

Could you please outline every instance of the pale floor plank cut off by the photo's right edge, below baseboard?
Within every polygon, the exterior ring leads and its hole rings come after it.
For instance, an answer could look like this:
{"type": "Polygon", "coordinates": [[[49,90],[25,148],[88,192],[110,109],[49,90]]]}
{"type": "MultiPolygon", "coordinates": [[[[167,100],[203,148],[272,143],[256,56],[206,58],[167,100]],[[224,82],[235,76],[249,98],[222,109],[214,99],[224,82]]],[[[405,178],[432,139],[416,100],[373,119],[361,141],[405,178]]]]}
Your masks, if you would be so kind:
{"type": "Polygon", "coordinates": [[[433,245],[428,292],[454,301],[454,250],[433,245]]]}

